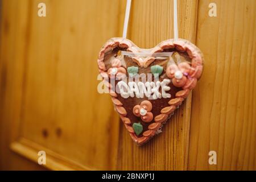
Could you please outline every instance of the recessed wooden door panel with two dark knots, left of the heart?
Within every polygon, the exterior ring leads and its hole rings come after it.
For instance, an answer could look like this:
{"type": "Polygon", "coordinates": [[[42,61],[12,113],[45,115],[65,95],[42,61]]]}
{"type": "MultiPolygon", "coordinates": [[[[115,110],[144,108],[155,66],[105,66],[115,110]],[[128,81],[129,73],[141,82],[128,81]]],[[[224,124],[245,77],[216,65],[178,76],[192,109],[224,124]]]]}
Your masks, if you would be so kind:
{"type": "Polygon", "coordinates": [[[22,137],[87,168],[112,169],[119,122],[110,98],[97,93],[96,60],[118,36],[122,2],[45,2],[47,17],[31,22],[22,137]]]}

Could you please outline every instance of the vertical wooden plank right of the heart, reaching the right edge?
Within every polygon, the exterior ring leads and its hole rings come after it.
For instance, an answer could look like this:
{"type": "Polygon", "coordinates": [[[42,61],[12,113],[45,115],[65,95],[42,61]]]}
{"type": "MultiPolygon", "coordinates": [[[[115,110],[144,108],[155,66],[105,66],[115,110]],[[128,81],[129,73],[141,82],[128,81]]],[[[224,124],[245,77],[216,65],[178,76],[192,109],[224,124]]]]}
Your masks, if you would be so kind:
{"type": "Polygon", "coordinates": [[[256,1],[199,1],[203,77],[192,98],[188,169],[256,169],[256,1]],[[208,152],[217,152],[209,166],[208,152]]]}

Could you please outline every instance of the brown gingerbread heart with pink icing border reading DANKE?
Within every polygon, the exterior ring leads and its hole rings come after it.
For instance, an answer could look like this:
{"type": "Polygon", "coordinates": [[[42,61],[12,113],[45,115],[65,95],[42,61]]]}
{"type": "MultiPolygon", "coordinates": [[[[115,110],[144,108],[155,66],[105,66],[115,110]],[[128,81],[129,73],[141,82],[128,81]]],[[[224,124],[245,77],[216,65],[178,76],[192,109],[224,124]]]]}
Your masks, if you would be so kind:
{"type": "Polygon", "coordinates": [[[100,51],[98,68],[131,138],[141,145],[161,131],[195,88],[203,54],[184,39],[141,49],[128,39],[112,38],[100,51]]]}

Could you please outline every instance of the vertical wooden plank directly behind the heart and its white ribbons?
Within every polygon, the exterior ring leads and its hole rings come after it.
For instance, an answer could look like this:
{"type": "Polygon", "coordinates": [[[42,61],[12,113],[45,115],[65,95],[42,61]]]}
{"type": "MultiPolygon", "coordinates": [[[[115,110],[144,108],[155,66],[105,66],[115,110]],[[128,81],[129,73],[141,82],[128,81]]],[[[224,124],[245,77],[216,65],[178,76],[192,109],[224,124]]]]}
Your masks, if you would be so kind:
{"type": "MultiPolygon", "coordinates": [[[[179,1],[179,35],[195,39],[197,1],[179,1]]],[[[129,36],[137,46],[151,48],[173,38],[173,1],[133,1],[129,36]]],[[[187,169],[191,96],[163,127],[163,133],[138,147],[120,127],[118,169],[187,169]]]]}

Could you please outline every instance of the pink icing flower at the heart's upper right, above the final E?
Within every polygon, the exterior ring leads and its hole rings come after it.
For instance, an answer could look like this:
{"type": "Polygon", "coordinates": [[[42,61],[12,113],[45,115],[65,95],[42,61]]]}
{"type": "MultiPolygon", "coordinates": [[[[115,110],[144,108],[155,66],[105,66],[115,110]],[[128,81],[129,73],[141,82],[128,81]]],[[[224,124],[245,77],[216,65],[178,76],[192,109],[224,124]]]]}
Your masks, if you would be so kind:
{"type": "Polygon", "coordinates": [[[171,64],[166,70],[166,75],[172,78],[172,84],[174,84],[174,86],[183,87],[187,82],[187,76],[190,71],[191,66],[183,62],[179,65],[171,64]]]}

